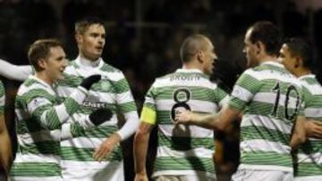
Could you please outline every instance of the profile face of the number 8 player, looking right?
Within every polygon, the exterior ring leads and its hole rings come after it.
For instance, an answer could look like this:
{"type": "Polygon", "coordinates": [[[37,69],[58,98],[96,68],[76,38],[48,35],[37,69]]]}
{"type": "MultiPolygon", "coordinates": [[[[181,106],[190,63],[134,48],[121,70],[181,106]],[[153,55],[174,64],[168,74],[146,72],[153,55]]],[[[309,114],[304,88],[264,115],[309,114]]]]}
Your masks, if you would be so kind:
{"type": "Polygon", "coordinates": [[[207,39],[206,44],[206,50],[204,51],[204,72],[208,75],[211,75],[214,70],[214,62],[218,57],[215,53],[214,45],[211,43],[209,39],[207,39]]]}

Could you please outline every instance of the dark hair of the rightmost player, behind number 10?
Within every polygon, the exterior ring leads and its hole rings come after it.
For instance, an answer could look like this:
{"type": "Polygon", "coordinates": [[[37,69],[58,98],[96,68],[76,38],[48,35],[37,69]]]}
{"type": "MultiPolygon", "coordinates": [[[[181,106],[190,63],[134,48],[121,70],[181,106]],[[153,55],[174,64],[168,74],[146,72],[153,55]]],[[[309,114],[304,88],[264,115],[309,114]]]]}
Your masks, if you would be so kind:
{"type": "Polygon", "coordinates": [[[292,56],[301,57],[304,67],[309,69],[313,68],[313,53],[308,41],[299,37],[292,37],[287,39],[285,44],[289,48],[292,56]]]}

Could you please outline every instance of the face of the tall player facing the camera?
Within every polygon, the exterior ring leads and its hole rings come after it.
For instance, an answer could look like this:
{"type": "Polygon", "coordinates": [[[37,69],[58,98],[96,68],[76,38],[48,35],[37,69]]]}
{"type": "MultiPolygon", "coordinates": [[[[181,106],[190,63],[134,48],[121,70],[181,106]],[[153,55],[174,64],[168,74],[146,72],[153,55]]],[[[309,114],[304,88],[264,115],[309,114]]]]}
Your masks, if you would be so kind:
{"type": "Polygon", "coordinates": [[[90,61],[96,61],[103,53],[106,31],[103,25],[92,24],[82,35],[76,35],[80,53],[90,61]]]}

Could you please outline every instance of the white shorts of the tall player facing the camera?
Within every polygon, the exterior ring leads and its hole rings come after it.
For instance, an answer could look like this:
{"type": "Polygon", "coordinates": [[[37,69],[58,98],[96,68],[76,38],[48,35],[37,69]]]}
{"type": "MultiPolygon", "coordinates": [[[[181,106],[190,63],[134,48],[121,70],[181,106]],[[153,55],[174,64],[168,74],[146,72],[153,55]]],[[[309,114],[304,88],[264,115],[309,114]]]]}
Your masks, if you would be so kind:
{"type": "Polygon", "coordinates": [[[109,163],[104,169],[64,168],[64,181],[124,181],[123,161],[109,163]],[[117,164],[117,165],[115,165],[117,164]]]}

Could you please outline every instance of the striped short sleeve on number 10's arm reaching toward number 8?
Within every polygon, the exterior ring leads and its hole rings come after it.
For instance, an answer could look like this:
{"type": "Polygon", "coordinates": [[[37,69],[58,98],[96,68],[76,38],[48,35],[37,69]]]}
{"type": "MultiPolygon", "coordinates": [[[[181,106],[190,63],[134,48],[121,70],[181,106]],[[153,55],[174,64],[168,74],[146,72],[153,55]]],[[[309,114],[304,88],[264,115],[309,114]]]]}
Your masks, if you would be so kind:
{"type": "Polygon", "coordinates": [[[246,70],[242,76],[238,78],[229,101],[229,106],[243,110],[247,103],[251,101],[253,96],[258,92],[261,83],[257,78],[251,76],[252,70],[246,70]]]}

